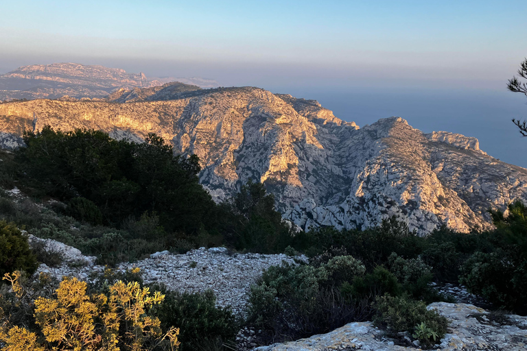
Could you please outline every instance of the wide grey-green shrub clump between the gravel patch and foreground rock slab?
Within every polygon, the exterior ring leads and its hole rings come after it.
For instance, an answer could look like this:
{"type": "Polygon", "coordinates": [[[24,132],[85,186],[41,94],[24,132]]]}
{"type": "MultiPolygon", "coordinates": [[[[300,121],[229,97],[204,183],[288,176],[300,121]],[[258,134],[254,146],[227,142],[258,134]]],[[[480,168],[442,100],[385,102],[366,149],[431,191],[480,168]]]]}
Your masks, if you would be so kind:
{"type": "Polygon", "coordinates": [[[368,316],[364,301],[347,298],[341,285],[364,274],[364,266],[351,256],[336,256],[328,263],[269,267],[251,287],[249,324],[264,330],[271,340],[296,339],[328,332],[368,316]]]}

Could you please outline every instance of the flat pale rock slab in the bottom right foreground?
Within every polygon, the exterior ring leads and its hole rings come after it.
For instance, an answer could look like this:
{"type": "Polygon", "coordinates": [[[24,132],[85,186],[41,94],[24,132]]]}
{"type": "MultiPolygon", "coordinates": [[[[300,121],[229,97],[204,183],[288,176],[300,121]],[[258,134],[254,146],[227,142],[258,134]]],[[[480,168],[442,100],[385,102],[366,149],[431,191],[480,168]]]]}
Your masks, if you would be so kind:
{"type": "MultiPolygon", "coordinates": [[[[522,351],[527,349],[527,317],[509,315],[509,325],[499,325],[486,317],[487,311],[470,304],[435,302],[428,308],[435,308],[450,322],[450,332],[433,350],[522,351]]],[[[324,335],[255,348],[255,351],[285,350],[410,351],[421,348],[395,345],[393,340],[384,337],[382,330],[375,328],[370,322],[350,323],[324,335]]]]}

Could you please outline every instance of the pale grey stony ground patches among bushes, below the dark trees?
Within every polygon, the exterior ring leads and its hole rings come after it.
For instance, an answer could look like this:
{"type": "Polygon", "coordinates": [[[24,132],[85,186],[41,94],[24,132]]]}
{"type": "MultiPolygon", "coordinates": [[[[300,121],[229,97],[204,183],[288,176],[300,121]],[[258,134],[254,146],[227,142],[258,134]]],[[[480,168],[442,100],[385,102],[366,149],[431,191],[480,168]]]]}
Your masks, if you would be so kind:
{"type": "MultiPolygon", "coordinates": [[[[31,241],[44,241],[50,252],[61,252],[65,262],[60,267],[40,265],[39,272],[54,278],[75,276],[82,280],[93,278],[93,273],[102,273],[104,266],[95,265],[95,258],[82,256],[74,247],[51,239],[31,237],[31,241]]],[[[116,269],[125,271],[139,267],[146,283],[163,283],[167,289],[181,292],[214,291],[218,306],[231,306],[233,313],[244,315],[250,293],[250,285],[256,283],[264,269],[282,262],[294,264],[294,258],[285,254],[234,254],[224,247],[191,250],[187,254],[156,252],[151,258],[135,263],[121,263],[116,269]]],[[[305,256],[297,259],[306,261],[305,256]]]]}

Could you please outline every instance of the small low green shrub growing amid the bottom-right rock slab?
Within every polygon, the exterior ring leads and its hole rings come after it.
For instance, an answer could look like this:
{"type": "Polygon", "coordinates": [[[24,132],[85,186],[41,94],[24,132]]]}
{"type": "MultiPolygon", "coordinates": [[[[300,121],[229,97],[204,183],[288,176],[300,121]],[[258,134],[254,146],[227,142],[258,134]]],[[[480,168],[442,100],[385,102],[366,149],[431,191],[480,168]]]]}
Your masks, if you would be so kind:
{"type": "MultiPolygon", "coordinates": [[[[419,333],[424,336],[434,332],[438,339],[445,336],[448,321],[439,315],[437,311],[428,310],[424,302],[412,300],[407,295],[402,296],[379,296],[375,300],[375,317],[373,323],[376,326],[386,328],[388,335],[397,337],[398,332],[416,332],[416,326],[425,324],[426,330],[419,333]]],[[[433,342],[430,338],[420,339],[425,346],[433,342]],[[428,341],[427,341],[428,339],[428,341]]]]}

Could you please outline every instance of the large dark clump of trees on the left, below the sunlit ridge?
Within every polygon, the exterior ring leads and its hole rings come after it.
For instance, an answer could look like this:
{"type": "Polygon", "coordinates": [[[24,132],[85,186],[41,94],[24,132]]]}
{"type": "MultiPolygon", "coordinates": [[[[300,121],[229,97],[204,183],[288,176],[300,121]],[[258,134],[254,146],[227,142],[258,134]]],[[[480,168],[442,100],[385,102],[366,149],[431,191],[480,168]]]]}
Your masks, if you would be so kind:
{"type": "Polygon", "coordinates": [[[43,193],[70,201],[71,215],[119,226],[145,212],[159,214],[169,230],[195,231],[215,210],[198,182],[198,158],[174,156],[172,147],[150,134],[145,143],[115,141],[94,130],[54,131],[46,127],[24,135],[16,151],[21,180],[43,193]],[[83,197],[85,199],[79,199],[83,197]],[[93,204],[92,204],[93,203],[93,204]]]}

